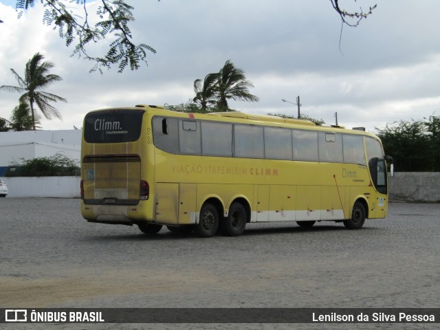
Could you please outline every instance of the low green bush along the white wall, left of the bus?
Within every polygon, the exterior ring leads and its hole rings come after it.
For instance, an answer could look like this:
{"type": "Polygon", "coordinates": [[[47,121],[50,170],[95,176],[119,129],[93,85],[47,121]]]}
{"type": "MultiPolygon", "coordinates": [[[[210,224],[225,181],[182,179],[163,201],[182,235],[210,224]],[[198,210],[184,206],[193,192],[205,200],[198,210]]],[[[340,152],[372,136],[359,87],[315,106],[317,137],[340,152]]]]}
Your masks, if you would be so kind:
{"type": "Polygon", "coordinates": [[[6,170],[6,177],[64,177],[80,175],[80,167],[76,163],[57,153],[52,157],[37,157],[25,160],[22,164],[13,163],[6,170]]]}

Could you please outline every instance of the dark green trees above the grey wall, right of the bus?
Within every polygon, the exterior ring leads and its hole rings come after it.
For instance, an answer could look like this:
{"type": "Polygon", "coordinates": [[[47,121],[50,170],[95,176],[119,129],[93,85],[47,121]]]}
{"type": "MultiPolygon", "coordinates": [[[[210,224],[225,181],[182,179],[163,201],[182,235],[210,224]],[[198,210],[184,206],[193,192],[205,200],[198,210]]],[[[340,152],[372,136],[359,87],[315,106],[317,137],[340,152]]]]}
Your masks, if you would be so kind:
{"type": "Polygon", "coordinates": [[[400,172],[440,171],[440,117],[400,120],[377,129],[385,153],[400,172]]]}

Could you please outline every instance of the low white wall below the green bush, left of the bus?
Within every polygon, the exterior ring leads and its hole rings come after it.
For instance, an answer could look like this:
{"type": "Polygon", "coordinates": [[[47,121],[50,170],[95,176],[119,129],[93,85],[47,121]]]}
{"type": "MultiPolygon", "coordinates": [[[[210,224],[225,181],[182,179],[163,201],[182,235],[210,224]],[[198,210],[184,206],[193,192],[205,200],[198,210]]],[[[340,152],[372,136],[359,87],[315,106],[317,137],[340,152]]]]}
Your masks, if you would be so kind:
{"type": "Polygon", "coordinates": [[[8,197],[80,197],[80,177],[0,177],[8,197]]]}

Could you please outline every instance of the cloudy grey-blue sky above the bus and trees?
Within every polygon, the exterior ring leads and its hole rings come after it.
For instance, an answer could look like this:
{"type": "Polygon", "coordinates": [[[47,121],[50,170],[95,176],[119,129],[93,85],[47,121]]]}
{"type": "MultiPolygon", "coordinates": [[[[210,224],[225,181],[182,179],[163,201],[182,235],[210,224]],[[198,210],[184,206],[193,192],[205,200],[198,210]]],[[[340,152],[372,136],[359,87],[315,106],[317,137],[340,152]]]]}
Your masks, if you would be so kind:
{"type": "MultiPolygon", "coordinates": [[[[94,109],[187,102],[194,80],[227,60],[244,70],[260,98],[230,102],[239,111],[296,115],[296,106],[281,99],[300,96],[302,113],[334,124],[337,112],[339,124],[368,131],[440,115],[440,1],[340,1],[366,11],[377,3],[358,28],[344,27],[340,47],[340,17],[329,0],[127,2],[135,7],[135,43],[157,54],[135,72],[114,67],[101,75],[89,74],[93,63],[69,57],[72,48],[42,24],[41,5],[17,19],[16,1],[0,0],[0,85],[17,85],[10,68],[23,74],[36,52],[63,77],[46,90],[67,98],[54,104],[63,120],[43,119],[43,129],[82,127],[94,109]]],[[[0,92],[0,117],[10,118],[18,97],[0,92]]]]}

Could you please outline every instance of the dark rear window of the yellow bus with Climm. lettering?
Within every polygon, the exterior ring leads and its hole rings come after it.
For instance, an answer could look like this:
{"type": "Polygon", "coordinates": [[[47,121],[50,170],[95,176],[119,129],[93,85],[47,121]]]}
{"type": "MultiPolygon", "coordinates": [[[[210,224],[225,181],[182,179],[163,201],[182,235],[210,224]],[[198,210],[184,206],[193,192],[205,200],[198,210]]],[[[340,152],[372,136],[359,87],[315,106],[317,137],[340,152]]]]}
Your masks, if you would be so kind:
{"type": "Polygon", "coordinates": [[[84,139],[89,143],[133,142],[139,139],[144,110],[103,110],[88,113],[84,139]]]}

